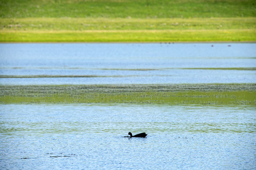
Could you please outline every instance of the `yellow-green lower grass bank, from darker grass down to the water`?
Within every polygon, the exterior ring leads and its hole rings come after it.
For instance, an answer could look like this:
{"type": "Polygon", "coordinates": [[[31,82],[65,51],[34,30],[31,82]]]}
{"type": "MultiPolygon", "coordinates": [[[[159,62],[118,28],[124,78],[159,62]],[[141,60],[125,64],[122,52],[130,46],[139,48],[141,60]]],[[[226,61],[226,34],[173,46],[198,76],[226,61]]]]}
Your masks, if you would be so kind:
{"type": "Polygon", "coordinates": [[[0,42],[254,42],[255,18],[0,19],[0,42]]]}

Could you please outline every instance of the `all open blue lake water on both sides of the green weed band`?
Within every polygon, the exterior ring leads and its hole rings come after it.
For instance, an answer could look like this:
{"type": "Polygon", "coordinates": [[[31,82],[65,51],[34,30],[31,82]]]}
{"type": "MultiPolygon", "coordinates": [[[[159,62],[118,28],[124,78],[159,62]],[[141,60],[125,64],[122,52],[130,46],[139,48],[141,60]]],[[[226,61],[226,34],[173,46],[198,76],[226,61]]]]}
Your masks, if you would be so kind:
{"type": "MultiPolygon", "coordinates": [[[[256,43],[0,44],[0,85],[256,83],[255,67],[256,43]]],[[[0,104],[0,169],[255,170],[255,113],[254,106],[0,104]],[[148,136],[123,137],[128,132],[148,136]]]]}

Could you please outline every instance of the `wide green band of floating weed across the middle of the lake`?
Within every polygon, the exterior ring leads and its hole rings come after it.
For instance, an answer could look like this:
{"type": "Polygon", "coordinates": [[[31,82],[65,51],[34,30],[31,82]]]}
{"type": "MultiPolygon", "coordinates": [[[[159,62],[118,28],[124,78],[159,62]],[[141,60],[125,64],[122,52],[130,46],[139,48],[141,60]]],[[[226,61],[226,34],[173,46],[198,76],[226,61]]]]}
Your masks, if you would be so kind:
{"type": "Polygon", "coordinates": [[[1,85],[0,103],[256,105],[256,84],[1,85]]]}

